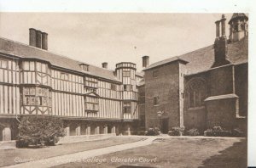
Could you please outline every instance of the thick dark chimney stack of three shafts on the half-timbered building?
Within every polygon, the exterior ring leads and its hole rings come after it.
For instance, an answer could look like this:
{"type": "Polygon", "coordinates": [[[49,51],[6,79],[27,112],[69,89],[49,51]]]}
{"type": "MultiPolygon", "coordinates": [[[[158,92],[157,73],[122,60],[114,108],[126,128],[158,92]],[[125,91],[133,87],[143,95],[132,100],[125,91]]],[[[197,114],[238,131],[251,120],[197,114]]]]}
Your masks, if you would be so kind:
{"type": "Polygon", "coordinates": [[[46,32],[38,31],[36,29],[30,28],[29,29],[29,45],[42,48],[47,50],[48,49],[48,34],[46,32]]]}

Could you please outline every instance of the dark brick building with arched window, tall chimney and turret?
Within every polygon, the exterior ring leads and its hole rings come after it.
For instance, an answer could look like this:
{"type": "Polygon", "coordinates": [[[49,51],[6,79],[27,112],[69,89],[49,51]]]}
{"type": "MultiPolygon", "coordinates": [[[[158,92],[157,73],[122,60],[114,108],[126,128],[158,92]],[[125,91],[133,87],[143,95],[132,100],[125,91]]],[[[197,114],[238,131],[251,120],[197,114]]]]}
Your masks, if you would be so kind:
{"type": "Polygon", "coordinates": [[[150,64],[145,69],[146,128],[226,129],[247,126],[247,15],[216,21],[214,45],[150,64]]]}

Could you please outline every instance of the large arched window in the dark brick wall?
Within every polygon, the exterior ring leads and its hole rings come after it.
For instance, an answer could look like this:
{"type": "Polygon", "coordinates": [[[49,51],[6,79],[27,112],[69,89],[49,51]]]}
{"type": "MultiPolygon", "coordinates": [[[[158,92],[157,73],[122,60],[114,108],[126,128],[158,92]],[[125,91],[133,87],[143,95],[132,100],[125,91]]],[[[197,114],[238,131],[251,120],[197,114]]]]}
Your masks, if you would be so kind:
{"type": "Polygon", "coordinates": [[[201,107],[207,94],[206,81],[195,77],[189,80],[185,88],[185,101],[188,108],[201,107]]]}

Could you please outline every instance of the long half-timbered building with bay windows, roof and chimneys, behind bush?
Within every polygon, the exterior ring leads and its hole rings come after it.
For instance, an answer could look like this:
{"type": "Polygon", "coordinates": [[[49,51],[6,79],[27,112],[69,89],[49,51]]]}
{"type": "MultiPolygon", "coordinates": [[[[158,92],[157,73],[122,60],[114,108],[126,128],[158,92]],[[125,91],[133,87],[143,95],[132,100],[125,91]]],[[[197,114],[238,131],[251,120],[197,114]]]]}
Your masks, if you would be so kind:
{"type": "Polygon", "coordinates": [[[0,38],[1,140],[15,139],[24,115],[52,115],[67,136],[131,134],[137,126],[136,64],[96,67],[50,53],[48,35],[29,30],[29,45],[0,38]]]}

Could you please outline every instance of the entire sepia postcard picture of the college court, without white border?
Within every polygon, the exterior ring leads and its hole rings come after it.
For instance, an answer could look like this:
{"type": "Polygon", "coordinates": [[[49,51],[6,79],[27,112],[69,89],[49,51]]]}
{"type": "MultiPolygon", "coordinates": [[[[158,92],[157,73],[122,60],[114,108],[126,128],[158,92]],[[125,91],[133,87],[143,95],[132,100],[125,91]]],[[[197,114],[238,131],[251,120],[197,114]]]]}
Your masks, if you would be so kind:
{"type": "Polygon", "coordinates": [[[0,167],[247,167],[249,18],[0,10],[0,167]]]}

